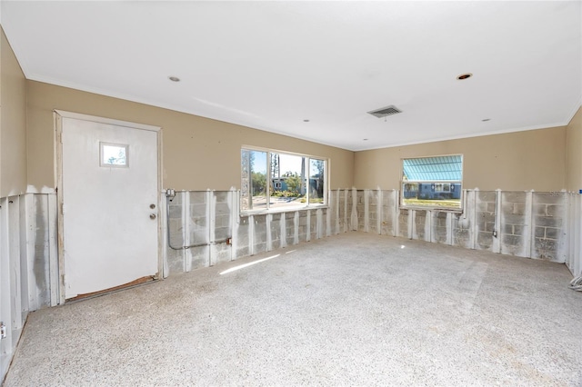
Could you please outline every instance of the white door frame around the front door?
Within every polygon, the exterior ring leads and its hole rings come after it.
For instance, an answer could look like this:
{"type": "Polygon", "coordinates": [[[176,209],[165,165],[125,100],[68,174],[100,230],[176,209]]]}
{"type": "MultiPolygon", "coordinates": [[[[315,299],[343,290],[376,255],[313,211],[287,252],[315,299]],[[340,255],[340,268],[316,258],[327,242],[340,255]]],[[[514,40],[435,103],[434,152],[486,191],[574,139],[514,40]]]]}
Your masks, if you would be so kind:
{"type": "Polygon", "coordinates": [[[56,203],[57,210],[57,234],[58,234],[58,288],[59,288],[59,303],[65,303],[65,225],[63,214],[63,118],[72,118],[75,120],[90,121],[98,124],[110,124],[116,126],[125,126],[130,129],[147,130],[156,133],[157,142],[157,186],[156,186],[156,201],[158,208],[157,216],[157,273],[162,276],[164,273],[164,233],[163,222],[166,218],[164,216],[164,209],[162,207],[162,128],[160,126],[153,126],[148,124],[137,124],[128,121],[120,121],[111,118],[98,117],[95,115],[80,114],[67,112],[65,110],[53,110],[53,117],[55,122],[55,182],[56,182],[56,203]]]}

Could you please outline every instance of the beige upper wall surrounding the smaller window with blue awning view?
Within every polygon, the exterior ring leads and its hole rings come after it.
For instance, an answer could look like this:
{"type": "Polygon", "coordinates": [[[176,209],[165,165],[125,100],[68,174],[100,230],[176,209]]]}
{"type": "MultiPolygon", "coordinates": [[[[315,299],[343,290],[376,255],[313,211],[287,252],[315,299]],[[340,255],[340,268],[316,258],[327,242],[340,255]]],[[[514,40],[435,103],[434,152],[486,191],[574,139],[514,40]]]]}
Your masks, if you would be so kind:
{"type": "MultiPolygon", "coordinates": [[[[578,148],[579,149],[579,148],[578,148]]],[[[356,152],[357,188],[397,189],[404,157],[463,154],[465,188],[566,188],[566,127],[356,152]]]]}

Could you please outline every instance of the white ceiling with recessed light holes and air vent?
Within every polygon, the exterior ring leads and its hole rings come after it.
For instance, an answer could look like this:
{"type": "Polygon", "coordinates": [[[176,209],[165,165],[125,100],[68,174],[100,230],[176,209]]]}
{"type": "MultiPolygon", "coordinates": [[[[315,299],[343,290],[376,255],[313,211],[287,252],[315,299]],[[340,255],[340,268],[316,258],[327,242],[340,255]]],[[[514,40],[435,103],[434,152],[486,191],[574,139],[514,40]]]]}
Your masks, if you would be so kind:
{"type": "Polygon", "coordinates": [[[28,79],[357,151],[567,124],[581,5],[2,1],[1,15],[28,79]],[[366,114],[390,104],[403,113],[366,114]]]}

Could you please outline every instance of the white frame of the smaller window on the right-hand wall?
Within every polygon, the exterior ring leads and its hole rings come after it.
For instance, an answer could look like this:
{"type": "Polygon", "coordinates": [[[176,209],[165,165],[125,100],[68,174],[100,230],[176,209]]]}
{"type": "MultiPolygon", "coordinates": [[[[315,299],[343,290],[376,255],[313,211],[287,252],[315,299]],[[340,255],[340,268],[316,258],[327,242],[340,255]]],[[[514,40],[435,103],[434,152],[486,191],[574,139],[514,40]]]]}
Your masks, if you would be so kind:
{"type": "MultiPolygon", "coordinates": [[[[427,211],[442,211],[442,212],[451,212],[451,213],[463,213],[464,203],[465,203],[465,193],[463,190],[464,184],[463,179],[465,176],[465,156],[464,154],[434,154],[428,156],[417,156],[417,157],[402,157],[400,159],[400,194],[399,194],[399,203],[398,208],[401,210],[427,210],[427,211]],[[433,157],[447,157],[447,156],[460,156],[461,158],[461,179],[460,180],[405,180],[405,171],[404,171],[404,162],[405,160],[417,160],[417,159],[427,159],[433,157]],[[443,188],[445,184],[449,184],[449,190],[443,192],[450,193],[451,187],[453,184],[460,184],[459,187],[459,205],[458,207],[452,206],[439,206],[439,205],[414,205],[414,204],[406,204],[405,203],[405,184],[432,184],[433,187],[436,188],[437,184],[442,184],[443,188]]],[[[419,190],[417,189],[416,192],[419,190]]],[[[435,189],[433,188],[433,191],[435,189]]],[[[437,202],[437,201],[435,201],[437,202]]]]}

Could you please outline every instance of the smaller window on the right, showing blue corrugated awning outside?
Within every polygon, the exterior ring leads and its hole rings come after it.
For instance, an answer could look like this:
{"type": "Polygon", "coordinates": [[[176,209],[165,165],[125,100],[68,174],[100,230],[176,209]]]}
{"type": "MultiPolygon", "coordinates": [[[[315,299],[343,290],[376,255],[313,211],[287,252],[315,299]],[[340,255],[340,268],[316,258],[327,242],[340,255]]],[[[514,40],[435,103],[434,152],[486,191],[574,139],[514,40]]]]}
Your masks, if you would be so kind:
{"type": "Polygon", "coordinates": [[[402,160],[403,207],[460,210],[463,155],[402,160]]]}

